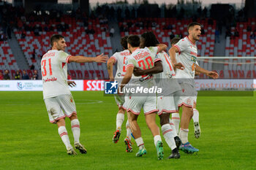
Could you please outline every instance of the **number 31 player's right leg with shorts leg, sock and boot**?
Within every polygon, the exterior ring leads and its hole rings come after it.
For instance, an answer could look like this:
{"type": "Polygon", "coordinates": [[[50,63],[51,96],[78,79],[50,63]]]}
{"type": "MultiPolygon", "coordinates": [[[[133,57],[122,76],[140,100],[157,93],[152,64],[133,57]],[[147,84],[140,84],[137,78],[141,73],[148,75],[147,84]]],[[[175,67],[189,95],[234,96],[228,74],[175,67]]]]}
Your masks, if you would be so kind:
{"type": "Polygon", "coordinates": [[[60,96],[59,104],[64,110],[65,115],[70,119],[75,148],[78,149],[80,153],[86,153],[86,148],[80,143],[80,121],[78,120],[74,98],[72,95],[60,96]]]}

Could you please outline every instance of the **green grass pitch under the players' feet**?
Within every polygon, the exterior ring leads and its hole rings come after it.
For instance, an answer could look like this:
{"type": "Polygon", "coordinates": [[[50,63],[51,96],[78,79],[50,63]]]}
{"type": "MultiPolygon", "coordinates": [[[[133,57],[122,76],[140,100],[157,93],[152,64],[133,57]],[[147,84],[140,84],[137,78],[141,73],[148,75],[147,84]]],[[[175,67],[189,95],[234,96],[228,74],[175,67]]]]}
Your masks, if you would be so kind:
{"type": "MultiPolygon", "coordinates": [[[[256,169],[256,97],[197,98],[202,135],[195,139],[192,123],[189,142],[200,151],[179,160],[157,161],[153,137],[143,115],[139,117],[147,154],[136,158],[125,152],[125,122],[120,141],[113,144],[117,107],[102,92],[73,92],[82,142],[88,153],[67,155],[57,126],[48,121],[42,92],[0,92],[0,169],[256,169]]],[[[70,121],[66,120],[73,143],[70,121]]],[[[157,117],[159,123],[159,117],[157,117]]],[[[164,138],[162,136],[162,140],[164,138]]]]}

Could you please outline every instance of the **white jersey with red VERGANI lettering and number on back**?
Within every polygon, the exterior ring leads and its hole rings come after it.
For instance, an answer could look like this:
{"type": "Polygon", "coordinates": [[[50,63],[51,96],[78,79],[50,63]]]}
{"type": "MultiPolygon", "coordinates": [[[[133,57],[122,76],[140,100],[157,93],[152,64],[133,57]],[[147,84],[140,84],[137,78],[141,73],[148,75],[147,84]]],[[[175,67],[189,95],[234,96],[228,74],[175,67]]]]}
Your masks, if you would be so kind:
{"type": "MultiPolygon", "coordinates": [[[[140,69],[146,70],[154,67],[154,63],[161,61],[157,58],[157,53],[159,53],[159,47],[145,47],[136,49],[127,58],[127,69],[130,66],[138,67],[140,69]]],[[[152,75],[142,75],[132,78],[129,83],[146,84],[148,80],[153,80],[152,75]]],[[[150,85],[149,85],[150,86],[150,85]]]]}

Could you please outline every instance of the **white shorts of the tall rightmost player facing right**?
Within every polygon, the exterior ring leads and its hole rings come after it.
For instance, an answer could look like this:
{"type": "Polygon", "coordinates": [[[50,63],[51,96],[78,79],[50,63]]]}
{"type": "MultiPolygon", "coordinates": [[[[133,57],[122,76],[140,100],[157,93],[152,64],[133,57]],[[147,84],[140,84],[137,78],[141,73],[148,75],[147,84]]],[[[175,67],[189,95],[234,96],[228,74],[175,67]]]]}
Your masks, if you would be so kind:
{"type": "Polygon", "coordinates": [[[180,83],[181,90],[183,95],[180,98],[180,101],[178,102],[178,107],[181,107],[182,105],[186,107],[193,108],[194,100],[195,100],[195,88],[190,85],[189,83],[180,83]]]}

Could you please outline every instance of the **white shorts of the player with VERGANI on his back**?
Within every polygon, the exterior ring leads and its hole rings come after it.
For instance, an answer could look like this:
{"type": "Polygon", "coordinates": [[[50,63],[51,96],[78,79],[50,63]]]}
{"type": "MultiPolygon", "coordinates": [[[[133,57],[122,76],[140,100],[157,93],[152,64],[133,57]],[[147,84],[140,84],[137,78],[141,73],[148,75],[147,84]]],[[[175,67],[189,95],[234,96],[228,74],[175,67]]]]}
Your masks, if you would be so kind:
{"type": "Polygon", "coordinates": [[[157,96],[125,96],[124,109],[135,115],[140,115],[143,108],[144,115],[157,112],[157,96]]]}

